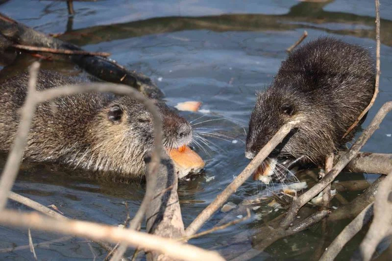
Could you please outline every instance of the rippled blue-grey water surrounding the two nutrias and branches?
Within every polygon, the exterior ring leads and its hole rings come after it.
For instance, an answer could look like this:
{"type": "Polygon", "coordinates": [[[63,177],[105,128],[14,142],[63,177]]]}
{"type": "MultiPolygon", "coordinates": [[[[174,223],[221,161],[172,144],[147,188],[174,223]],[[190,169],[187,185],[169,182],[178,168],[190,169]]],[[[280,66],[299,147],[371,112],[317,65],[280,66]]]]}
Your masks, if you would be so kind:
{"type": "MultiPolygon", "coordinates": [[[[183,220],[187,226],[225,186],[246,166],[244,128],[253,108],[255,91],[268,85],[285,49],[302,34],[305,42],[319,36],[332,36],[367,48],[375,57],[374,1],[336,0],[306,3],[297,0],[101,0],[74,2],[75,15],[69,18],[65,2],[10,0],[0,5],[0,12],[45,33],[62,33],[60,39],[90,51],[112,53],[128,69],[151,77],[164,91],[170,105],[186,100],[203,102],[210,113],[203,119],[218,119],[200,124],[219,128],[237,140],[211,140],[221,150],[203,150],[205,177],[181,182],[179,196],[183,220]],[[215,177],[211,181],[208,177],[215,177]]],[[[381,0],[381,78],[380,95],[363,126],[367,126],[381,105],[392,100],[392,2],[381,0]]],[[[22,65],[21,65],[22,66],[22,65]]],[[[73,65],[47,62],[43,67],[77,71],[73,65]]],[[[200,113],[183,113],[196,119],[200,113]]],[[[392,114],[370,138],[363,151],[391,153],[392,114]]],[[[4,156],[0,157],[3,166],[4,156]]],[[[84,180],[57,166],[24,165],[13,191],[43,205],[56,205],[66,216],[117,225],[126,216],[124,203],[135,213],[144,195],[143,183],[115,184],[84,180]]],[[[303,179],[307,179],[304,177],[303,179]]],[[[341,175],[338,179],[369,179],[374,175],[341,175]]],[[[265,189],[260,183],[247,181],[230,201],[239,203],[265,189]]],[[[352,199],[360,191],[345,193],[352,199]]],[[[262,220],[250,221],[191,240],[192,244],[217,249],[230,259],[251,249],[250,237],[257,227],[270,220],[275,212],[266,200],[260,209],[262,220]],[[269,213],[272,211],[271,213],[269,213]],[[247,234],[246,234],[247,235],[247,234]]],[[[27,210],[9,202],[8,207],[27,210]]],[[[240,213],[240,212],[239,212],[240,213]]],[[[225,214],[215,214],[202,229],[216,225],[225,214]]],[[[233,218],[236,218],[233,216],[233,218]]],[[[329,224],[330,242],[349,220],[329,224]]],[[[254,260],[309,260],[322,237],[319,226],[279,240],[254,260]]],[[[53,240],[62,235],[32,231],[34,243],[53,240]]],[[[339,256],[346,260],[363,237],[353,239],[339,256]]],[[[28,244],[25,229],[0,228],[0,259],[32,260],[28,249],[1,250],[28,244]]],[[[83,238],[36,247],[39,260],[102,260],[106,253],[83,238]]],[[[131,251],[127,255],[131,255],[131,251]]]]}

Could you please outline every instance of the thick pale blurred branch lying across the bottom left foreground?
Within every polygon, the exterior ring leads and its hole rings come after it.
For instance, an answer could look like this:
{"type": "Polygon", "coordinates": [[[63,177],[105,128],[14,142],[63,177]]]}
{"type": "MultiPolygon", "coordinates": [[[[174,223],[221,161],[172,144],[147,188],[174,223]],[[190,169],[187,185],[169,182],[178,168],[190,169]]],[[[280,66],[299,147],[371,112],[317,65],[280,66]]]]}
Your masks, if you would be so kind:
{"type": "Polygon", "coordinates": [[[0,223],[3,225],[57,232],[65,235],[87,237],[93,240],[104,240],[114,243],[122,241],[134,247],[142,247],[150,251],[164,253],[173,259],[189,261],[224,260],[216,252],[207,251],[189,244],[179,243],[173,239],[93,222],[58,220],[37,213],[25,214],[18,211],[3,210],[0,213],[0,223]]]}

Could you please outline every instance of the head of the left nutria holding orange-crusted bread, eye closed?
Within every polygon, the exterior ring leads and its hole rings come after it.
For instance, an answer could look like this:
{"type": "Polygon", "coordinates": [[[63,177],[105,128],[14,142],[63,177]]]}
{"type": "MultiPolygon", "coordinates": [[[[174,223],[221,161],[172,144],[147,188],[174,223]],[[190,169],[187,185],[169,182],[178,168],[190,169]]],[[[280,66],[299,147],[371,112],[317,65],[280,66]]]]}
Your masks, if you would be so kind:
{"type": "MultiPolygon", "coordinates": [[[[188,121],[162,101],[155,101],[155,105],[163,122],[164,147],[178,148],[192,142],[188,121]]],[[[110,102],[91,120],[86,136],[95,170],[109,170],[123,177],[144,174],[144,157],[153,146],[153,122],[140,102],[127,96],[110,102]]]]}

